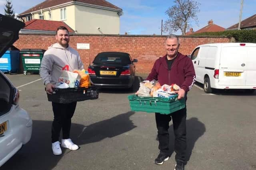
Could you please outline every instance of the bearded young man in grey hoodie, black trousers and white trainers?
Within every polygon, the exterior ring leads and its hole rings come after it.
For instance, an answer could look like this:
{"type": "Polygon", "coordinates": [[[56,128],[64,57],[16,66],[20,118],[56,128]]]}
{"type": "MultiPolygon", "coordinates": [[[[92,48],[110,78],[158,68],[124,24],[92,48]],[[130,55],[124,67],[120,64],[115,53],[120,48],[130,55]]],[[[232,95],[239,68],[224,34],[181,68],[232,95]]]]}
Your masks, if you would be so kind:
{"type": "MultiPolygon", "coordinates": [[[[66,27],[60,26],[56,31],[57,43],[48,47],[40,66],[40,76],[46,85],[46,92],[52,94],[54,84],[58,82],[61,76],[61,70],[81,70],[83,63],[78,52],[72,49],[68,43],[70,36],[66,27]]],[[[52,152],[54,155],[62,154],[59,137],[62,129],[61,146],[71,150],[77,150],[79,147],[70,139],[71,118],[76,109],[76,102],[69,104],[60,104],[52,102],[54,119],[52,122],[52,152]]]]}

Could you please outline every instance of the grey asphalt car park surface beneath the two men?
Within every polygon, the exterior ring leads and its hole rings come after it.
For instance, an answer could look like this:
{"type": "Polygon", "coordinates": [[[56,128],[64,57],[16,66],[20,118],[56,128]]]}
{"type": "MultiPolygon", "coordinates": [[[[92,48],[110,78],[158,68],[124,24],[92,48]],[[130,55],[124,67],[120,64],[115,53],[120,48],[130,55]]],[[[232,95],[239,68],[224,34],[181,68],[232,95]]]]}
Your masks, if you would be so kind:
{"type": "MultiPolygon", "coordinates": [[[[37,74],[7,75],[20,90],[20,106],[33,120],[32,137],[1,170],[170,170],[175,152],[163,165],[158,155],[153,113],[130,111],[124,89],[102,89],[99,98],[78,102],[71,138],[79,150],[51,150],[51,103],[37,74]]],[[[142,79],[141,77],[136,77],[142,79]]],[[[218,91],[206,94],[200,84],[188,94],[186,170],[255,170],[254,94],[218,91]]],[[[173,141],[170,123],[170,141],[173,141]]],[[[170,148],[173,148],[171,143],[170,148]]]]}

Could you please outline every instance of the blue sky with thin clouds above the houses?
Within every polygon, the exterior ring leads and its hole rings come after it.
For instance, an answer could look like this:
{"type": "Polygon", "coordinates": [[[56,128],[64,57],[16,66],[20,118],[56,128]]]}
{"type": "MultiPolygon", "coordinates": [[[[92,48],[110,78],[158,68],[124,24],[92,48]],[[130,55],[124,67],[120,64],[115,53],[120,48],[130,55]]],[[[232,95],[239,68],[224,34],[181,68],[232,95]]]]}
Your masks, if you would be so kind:
{"type": "MultiPolygon", "coordinates": [[[[25,10],[43,2],[44,0],[12,0],[15,13],[25,10]]],[[[160,35],[161,20],[166,21],[168,16],[165,11],[174,5],[173,0],[107,0],[123,9],[120,17],[120,34],[160,35]]],[[[209,20],[215,24],[227,28],[238,23],[241,0],[195,0],[201,5],[197,14],[199,23],[190,23],[195,31],[206,26],[209,20]]],[[[0,0],[0,14],[4,14],[6,0],[0,0]]],[[[242,20],[256,14],[256,0],[244,0],[242,20]]],[[[167,33],[163,33],[164,35],[167,33]]],[[[176,32],[180,35],[180,31],[176,32]]]]}

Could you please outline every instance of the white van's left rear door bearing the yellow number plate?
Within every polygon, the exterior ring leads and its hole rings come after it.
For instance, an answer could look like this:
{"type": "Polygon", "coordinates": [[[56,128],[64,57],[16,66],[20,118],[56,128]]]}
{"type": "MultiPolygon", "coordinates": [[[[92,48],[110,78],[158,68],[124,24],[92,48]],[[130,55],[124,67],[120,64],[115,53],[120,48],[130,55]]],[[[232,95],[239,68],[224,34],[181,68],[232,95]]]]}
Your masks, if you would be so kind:
{"type": "Polygon", "coordinates": [[[227,43],[222,45],[219,85],[246,85],[248,65],[250,65],[248,50],[251,48],[247,43],[227,43]]]}

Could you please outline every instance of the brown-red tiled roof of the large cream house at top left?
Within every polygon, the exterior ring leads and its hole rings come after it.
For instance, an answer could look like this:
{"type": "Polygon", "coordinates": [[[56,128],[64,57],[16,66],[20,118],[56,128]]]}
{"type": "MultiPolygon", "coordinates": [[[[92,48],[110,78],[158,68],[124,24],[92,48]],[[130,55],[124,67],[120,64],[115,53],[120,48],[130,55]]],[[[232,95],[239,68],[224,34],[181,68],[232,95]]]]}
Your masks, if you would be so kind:
{"type": "Polygon", "coordinates": [[[37,4],[36,6],[20,13],[18,16],[30,14],[31,12],[35,12],[35,11],[38,11],[41,9],[43,10],[43,9],[50,8],[53,6],[66,4],[68,2],[70,2],[70,3],[79,2],[79,3],[85,4],[85,5],[87,4],[89,6],[106,7],[106,8],[112,8],[112,9],[115,9],[118,11],[122,11],[121,8],[107,2],[106,0],[45,0],[44,2],[37,4]]]}

